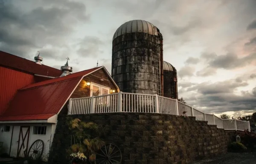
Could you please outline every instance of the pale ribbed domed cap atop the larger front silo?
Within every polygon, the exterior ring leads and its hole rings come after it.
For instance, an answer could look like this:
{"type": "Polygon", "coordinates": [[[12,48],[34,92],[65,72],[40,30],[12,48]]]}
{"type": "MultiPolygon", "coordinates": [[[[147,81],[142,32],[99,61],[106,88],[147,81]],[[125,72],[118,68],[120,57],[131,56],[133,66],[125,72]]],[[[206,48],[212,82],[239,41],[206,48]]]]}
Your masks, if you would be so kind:
{"type": "Polygon", "coordinates": [[[131,32],[144,32],[150,35],[158,35],[157,27],[145,20],[130,20],[122,24],[115,32],[113,40],[123,34],[131,32]]]}

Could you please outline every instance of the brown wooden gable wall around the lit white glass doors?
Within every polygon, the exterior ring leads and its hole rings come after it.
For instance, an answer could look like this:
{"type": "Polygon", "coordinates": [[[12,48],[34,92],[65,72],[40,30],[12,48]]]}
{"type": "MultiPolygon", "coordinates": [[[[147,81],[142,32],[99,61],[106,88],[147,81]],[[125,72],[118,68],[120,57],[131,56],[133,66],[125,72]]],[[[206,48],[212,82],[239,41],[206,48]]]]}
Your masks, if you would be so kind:
{"type": "Polygon", "coordinates": [[[86,85],[86,82],[93,82],[96,84],[100,84],[102,86],[109,87],[111,90],[114,89],[117,92],[117,88],[111,79],[108,77],[107,73],[104,69],[99,69],[96,72],[91,73],[90,75],[85,76],[79,85],[76,87],[73,94],[70,98],[82,98],[82,97],[90,97],[90,86],[86,85]],[[101,79],[103,81],[101,81],[101,79]]]}

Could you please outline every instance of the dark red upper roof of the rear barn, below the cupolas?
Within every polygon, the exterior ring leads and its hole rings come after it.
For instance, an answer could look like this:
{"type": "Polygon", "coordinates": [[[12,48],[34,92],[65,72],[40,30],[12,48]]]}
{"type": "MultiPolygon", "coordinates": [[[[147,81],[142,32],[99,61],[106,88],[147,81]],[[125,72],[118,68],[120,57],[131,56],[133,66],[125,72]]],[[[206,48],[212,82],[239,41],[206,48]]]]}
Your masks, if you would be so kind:
{"type": "Polygon", "coordinates": [[[18,56],[0,51],[0,66],[20,70],[32,74],[58,77],[61,75],[60,69],[55,69],[46,65],[40,65],[34,61],[20,58],[18,56]]]}

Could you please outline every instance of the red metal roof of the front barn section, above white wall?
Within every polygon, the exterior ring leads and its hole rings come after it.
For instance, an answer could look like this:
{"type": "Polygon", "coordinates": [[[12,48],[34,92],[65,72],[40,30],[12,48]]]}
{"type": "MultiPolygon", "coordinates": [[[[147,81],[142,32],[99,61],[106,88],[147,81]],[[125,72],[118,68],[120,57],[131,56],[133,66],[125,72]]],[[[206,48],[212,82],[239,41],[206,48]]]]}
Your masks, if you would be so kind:
{"type": "MultiPolygon", "coordinates": [[[[31,84],[18,90],[8,109],[1,115],[0,121],[17,121],[24,119],[38,120],[39,115],[57,114],[66,103],[84,75],[88,75],[99,68],[76,72],[64,77],[31,84]]],[[[45,117],[46,119],[48,119],[45,117]]]]}

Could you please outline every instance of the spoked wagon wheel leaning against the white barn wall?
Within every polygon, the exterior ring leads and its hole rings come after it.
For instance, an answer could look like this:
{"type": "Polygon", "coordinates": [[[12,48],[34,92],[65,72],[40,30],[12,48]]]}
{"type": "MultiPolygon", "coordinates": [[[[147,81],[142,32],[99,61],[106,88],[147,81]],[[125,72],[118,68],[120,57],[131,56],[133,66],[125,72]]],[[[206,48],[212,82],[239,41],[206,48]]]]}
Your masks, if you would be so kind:
{"type": "Polygon", "coordinates": [[[43,155],[44,152],[44,141],[36,140],[30,146],[27,156],[32,159],[39,159],[43,155]]]}

